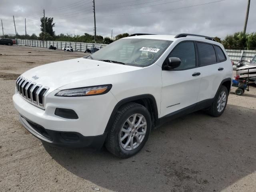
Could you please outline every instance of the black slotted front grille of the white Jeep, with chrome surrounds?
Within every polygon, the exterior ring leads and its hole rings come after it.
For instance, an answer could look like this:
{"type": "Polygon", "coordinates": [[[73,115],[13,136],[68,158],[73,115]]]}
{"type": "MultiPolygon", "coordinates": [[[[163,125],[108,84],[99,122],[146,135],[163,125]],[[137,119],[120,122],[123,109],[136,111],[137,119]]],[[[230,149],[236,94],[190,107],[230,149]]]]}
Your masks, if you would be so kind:
{"type": "Polygon", "coordinates": [[[40,108],[44,108],[44,96],[49,90],[48,87],[42,87],[42,85],[31,82],[20,76],[16,80],[16,88],[18,93],[28,102],[40,108]]]}

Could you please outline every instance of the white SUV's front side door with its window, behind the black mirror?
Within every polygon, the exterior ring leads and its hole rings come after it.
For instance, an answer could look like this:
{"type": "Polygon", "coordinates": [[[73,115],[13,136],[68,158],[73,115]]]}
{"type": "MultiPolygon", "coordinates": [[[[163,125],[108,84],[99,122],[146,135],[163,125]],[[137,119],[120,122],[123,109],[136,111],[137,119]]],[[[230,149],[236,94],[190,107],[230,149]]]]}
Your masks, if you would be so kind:
{"type": "Polygon", "coordinates": [[[162,70],[160,117],[183,110],[194,110],[202,80],[195,42],[180,42],[170,52],[169,57],[180,58],[181,64],[173,70],[162,70]]]}

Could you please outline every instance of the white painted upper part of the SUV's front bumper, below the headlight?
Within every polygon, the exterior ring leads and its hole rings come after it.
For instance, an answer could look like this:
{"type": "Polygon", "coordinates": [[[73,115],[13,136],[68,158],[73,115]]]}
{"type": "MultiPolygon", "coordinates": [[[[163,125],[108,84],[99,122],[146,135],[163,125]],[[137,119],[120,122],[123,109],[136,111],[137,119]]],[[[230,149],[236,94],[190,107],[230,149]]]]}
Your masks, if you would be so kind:
{"type": "Polygon", "coordinates": [[[56,132],[77,132],[82,136],[100,136],[105,132],[109,117],[116,105],[116,99],[108,92],[99,96],[56,97],[55,92],[46,97],[45,110],[32,105],[15,93],[14,107],[23,117],[47,130],[56,132]],[[78,119],[63,118],[55,114],[56,108],[71,109],[78,119]]]}

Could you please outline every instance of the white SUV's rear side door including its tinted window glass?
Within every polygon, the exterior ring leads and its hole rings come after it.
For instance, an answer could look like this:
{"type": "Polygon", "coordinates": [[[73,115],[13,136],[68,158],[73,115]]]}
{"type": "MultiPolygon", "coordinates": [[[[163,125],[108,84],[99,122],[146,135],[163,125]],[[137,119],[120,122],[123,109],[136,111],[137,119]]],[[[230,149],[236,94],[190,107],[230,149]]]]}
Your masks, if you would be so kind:
{"type": "Polygon", "coordinates": [[[224,79],[226,56],[219,46],[206,42],[196,42],[199,68],[202,70],[202,82],[198,102],[214,98],[220,83],[224,79]]]}

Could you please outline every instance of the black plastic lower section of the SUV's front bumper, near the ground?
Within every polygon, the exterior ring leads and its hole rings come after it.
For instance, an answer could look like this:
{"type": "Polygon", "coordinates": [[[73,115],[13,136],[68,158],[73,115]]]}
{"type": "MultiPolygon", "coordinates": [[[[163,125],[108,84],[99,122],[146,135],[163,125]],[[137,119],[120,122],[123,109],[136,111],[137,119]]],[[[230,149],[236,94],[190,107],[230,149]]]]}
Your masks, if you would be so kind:
{"type": "Polygon", "coordinates": [[[95,148],[100,149],[106,139],[106,133],[99,136],[83,136],[78,132],[63,132],[45,129],[19,114],[22,125],[34,136],[42,141],[55,146],[67,146],[72,148],[95,148]]]}

